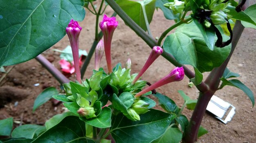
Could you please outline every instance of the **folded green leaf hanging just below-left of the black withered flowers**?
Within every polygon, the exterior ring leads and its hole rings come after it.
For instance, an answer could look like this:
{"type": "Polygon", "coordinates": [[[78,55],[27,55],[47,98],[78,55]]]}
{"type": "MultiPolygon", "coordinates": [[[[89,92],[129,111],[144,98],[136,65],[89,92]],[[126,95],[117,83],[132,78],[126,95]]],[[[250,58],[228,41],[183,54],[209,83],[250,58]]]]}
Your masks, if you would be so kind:
{"type": "Polygon", "coordinates": [[[195,19],[193,16],[192,16],[192,19],[195,22],[195,25],[198,26],[198,29],[200,30],[201,34],[203,35],[204,41],[205,41],[206,45],[208,46],[208,48],[210,50],[213,50],[214,44],[215,44],[215,39],[214,39],[215,31],[214,31],[213,26],[207,28],[207,27],[203,26],[202,24],[200,24],[198,22],[198,20],[195,19]]]}

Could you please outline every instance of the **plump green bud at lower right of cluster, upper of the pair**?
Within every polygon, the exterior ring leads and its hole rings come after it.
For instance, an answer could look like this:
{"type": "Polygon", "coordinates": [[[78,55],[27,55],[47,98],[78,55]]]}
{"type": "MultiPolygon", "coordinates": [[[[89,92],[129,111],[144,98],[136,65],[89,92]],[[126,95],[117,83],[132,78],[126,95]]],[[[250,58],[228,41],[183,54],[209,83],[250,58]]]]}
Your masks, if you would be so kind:
{"type": "Polygon", "coordinates": [[[143,100],[139,100],[137,98],[137,101],[135,101],[134,104],[132,104],[132,109],[137,113],[137,114],[143,114],[148,111],[148,106],[149,104],[143,100]]]}

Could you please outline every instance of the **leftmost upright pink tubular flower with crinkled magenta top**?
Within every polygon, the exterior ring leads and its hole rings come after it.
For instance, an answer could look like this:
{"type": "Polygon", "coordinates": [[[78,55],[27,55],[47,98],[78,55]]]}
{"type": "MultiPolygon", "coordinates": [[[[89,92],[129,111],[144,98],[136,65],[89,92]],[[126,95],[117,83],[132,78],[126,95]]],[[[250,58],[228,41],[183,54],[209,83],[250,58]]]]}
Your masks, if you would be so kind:
{"type": "Polygon", "coordinates": [[[74,59],[74,67],[75,67],[75,74],[76,74],[76,80],[81,83],[81,73],[79,68],[79,48],[78,48],[78,41],[79,41],[79,35],[82,28],[79,26],[79,24],[71,20],[66,28],[67,36],[70,39],[70,45],[72,48],[72,54],[74,59]]]}

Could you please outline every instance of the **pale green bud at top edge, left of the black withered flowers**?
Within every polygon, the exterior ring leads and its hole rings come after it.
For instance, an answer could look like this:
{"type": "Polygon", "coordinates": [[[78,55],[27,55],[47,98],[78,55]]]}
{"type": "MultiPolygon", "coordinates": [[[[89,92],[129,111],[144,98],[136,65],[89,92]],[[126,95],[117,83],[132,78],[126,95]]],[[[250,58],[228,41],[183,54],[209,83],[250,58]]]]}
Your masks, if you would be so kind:
{"type": "Polygon", "coordinates": [[[168,2],[164,4],[168,9],[173,10],[173,14],[182,13],[185,8],[185,2],[174,0],[173,2],[168,2]]]}

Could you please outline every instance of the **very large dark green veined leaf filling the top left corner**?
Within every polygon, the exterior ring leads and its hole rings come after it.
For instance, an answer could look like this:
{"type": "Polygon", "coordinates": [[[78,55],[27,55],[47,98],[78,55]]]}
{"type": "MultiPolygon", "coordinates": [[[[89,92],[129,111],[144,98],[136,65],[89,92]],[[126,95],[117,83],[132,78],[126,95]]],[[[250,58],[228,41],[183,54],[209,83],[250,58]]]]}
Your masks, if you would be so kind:
{"type": "Polygon", "coordinates": [[[0,66],[22,63],[52,47],[70,20],[85,17],[81,0],[0,2],[0,66]]]}

